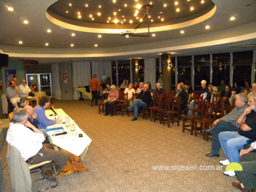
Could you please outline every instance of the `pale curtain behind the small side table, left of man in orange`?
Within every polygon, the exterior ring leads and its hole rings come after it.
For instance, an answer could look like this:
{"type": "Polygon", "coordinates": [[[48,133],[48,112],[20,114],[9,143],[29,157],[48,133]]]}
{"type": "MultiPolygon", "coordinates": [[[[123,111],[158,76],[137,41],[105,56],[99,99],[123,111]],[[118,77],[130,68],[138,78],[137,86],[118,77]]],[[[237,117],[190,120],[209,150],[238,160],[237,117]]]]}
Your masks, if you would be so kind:
{"type": "MultiPolygon", "coordinates": [[[[94,74],[94,73],[93,73],[94,74]]],[[[97,73],[96,73],[97,74],[97,73]]],[[[73,87],[84,87],[89,85],[91,80],[90,62],[74,62],[73,63],[73,87]]],[[[78,100],[80,92],[74,90],[74,100],[78,100]]]]}

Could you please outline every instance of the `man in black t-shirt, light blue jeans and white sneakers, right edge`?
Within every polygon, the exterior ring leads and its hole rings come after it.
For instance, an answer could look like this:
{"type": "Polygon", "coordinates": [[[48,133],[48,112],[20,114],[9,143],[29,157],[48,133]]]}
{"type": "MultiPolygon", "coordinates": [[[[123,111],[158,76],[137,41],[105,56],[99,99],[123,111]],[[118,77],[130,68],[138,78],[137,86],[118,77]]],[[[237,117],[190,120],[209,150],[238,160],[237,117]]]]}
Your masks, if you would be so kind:
{"type": "MultiPolygon", "coordinates": [[[[220,164],[228,165],[233,162],[239,162],[238,150],[244,149],[247,140],[256,140],[256,95],[251,95],[248,98],[248,105],[236,123],[240,124],[238,132],[221,132],[219,140],[221,148],[226,158],[220,161],[220,164]]],[[[235,176],[235,171],[225,171],[227,176],[235,176]]]]}

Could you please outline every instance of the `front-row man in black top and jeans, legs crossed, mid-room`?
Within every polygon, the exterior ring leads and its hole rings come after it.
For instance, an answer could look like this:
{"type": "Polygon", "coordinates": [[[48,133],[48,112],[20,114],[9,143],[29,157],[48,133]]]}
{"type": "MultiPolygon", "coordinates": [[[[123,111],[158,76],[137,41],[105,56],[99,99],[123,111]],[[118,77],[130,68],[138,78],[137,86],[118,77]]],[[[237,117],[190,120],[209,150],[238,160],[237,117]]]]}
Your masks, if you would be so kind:
{"type": "Polygon", "coordinates": [[[139,93],[138,97],[130,107],[127,108],[128,111],[132,111],[134,109],[134,118],[132,121],[136,121],[138,119],[138,109],[139,107],[147,107],[149,106],[152,97],[151,92],[149,92],[149,85],[143,85],[143,90],[139,93]]]}

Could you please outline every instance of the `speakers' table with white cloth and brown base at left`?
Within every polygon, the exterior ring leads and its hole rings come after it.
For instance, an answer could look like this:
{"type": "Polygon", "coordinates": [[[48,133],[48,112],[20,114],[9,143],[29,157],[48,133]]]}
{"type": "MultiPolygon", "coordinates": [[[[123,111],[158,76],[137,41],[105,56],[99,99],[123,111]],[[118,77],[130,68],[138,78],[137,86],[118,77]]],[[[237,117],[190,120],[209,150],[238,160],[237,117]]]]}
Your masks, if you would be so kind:
{"type": "MultiPolygon", "coordinates": [[[[76,124],[62,109],[54,110],[58,114],[58,117],[63,119],[63,122],[49,126],[47,129],[50,130],[63,127],[63,131],[67,132],[67,134],[55,136],[54,134],[60,130],[49,131],[50,144],[53,144],[56,151],[64,151],[70,155],[70,161],[63,166],[63,172],[60,172],[58,176],[89,171],[83,166],[82,161],[85,159],[92,139],[90,139],[90,137],[78,127],[78,124],[76,124]],[[75,131],[73,132],[71,132],[70,127],[65,126],[65,119],[67,119],[67,117],[70,119],[70,124],[75,126],[75,131]],[[82,135],[82,137],[79,137],[79,135],[82,135]]],[[[46,110],[46,117],[48,117],[48,119],[55,119],[55,113],[52,110],[46,110]]]]}

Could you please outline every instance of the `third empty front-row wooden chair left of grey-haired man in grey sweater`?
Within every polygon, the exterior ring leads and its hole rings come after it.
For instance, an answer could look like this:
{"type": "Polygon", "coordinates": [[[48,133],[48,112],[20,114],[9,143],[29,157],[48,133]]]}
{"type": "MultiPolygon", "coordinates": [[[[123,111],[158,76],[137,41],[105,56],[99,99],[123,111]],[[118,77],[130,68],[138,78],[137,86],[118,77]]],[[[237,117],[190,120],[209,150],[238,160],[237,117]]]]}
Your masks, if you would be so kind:
{"type": "Polygon", "coordinates": [[[179,122],[181,120],[181,97],[174,97],[171,105],[170,111],[163,111],[163,125],[165,122],[167,122],[168,127],[170,127],[170,122],[174,124],[174,122],[177,122],[179,126],[179,122]],[[167,114],[167,117],[165,117],[165,114],[167,114]],[[174,119],[174,116],[177,116],[177,120],[174,119]]]}

